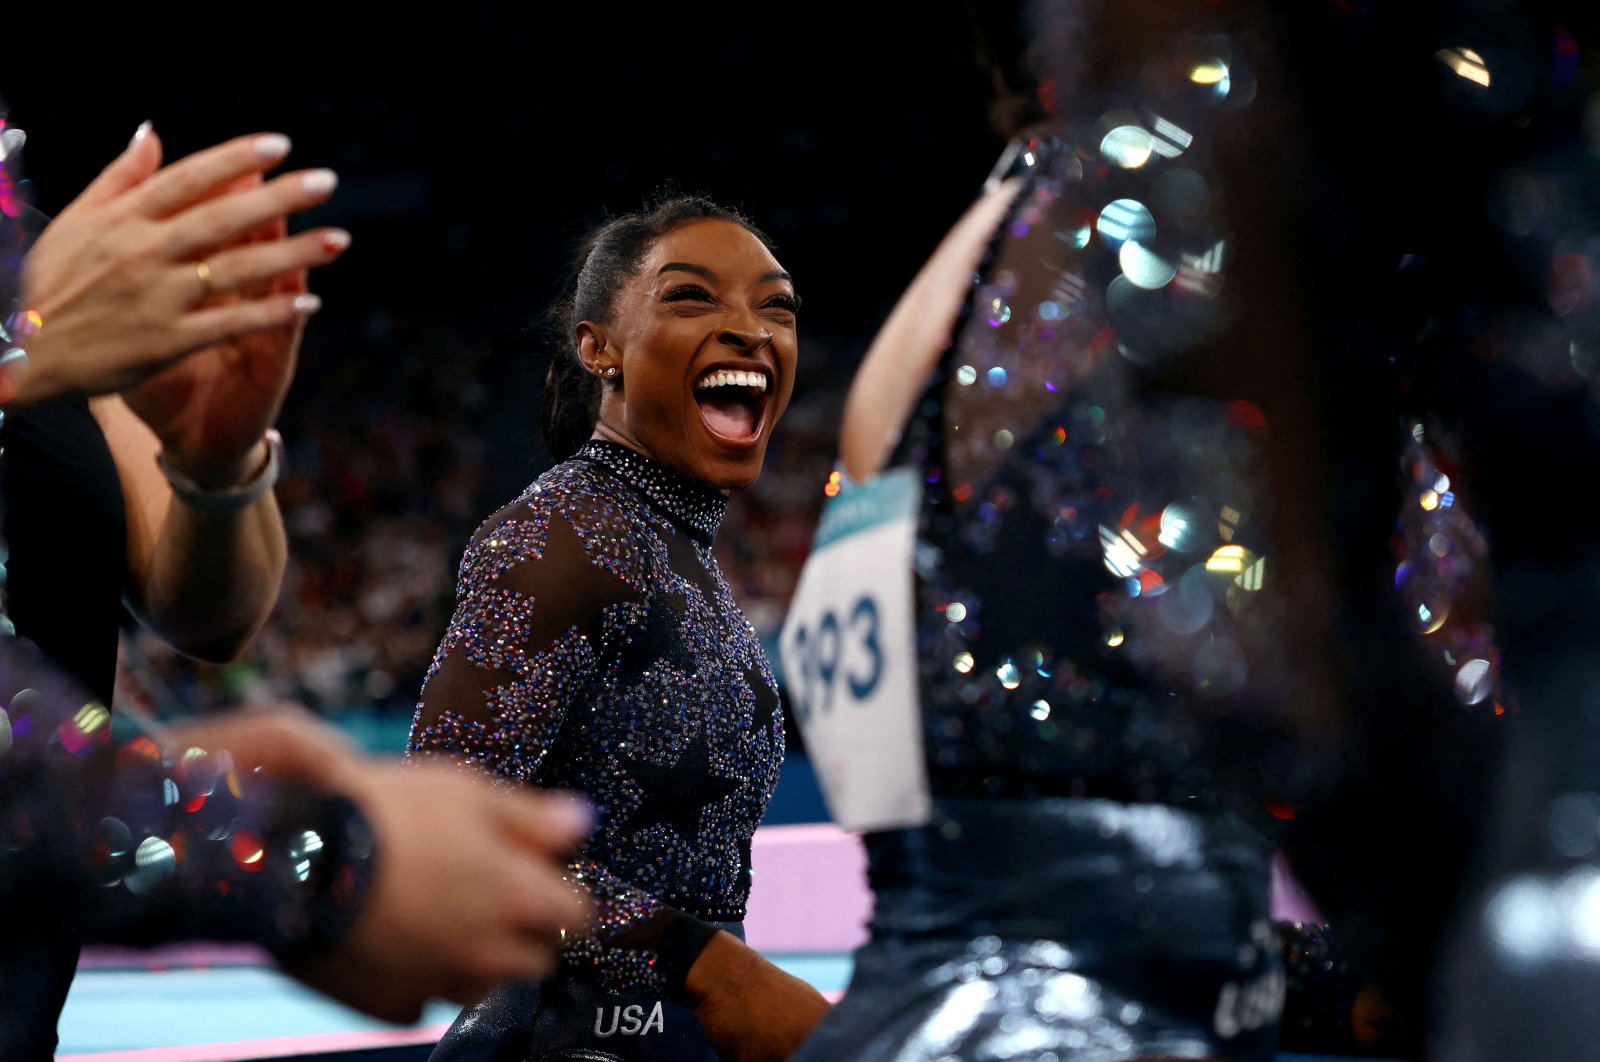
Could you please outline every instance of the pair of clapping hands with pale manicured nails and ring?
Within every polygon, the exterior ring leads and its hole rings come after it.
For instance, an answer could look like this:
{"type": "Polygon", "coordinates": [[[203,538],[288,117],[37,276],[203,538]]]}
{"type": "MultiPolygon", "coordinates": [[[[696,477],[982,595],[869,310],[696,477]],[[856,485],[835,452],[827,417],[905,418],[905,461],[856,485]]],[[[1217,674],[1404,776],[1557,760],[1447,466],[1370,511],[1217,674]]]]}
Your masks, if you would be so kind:
{"type": "Polygon", "coordinates": [[[14,401],[125,390],[206,352],[134,401],[197,481],[250,464],[318,305],[306,273],[349,245],[334,229],[286,235],[288,218],[334,187],[326,170],[266,179],[288,150],[282,134],[242,136],[163,166],[158,138],[141,126],[24,261],[22,304],[42,323],[14,401]],[[232,400],[253,432],[218,433],[206,406],[232,400]]]}

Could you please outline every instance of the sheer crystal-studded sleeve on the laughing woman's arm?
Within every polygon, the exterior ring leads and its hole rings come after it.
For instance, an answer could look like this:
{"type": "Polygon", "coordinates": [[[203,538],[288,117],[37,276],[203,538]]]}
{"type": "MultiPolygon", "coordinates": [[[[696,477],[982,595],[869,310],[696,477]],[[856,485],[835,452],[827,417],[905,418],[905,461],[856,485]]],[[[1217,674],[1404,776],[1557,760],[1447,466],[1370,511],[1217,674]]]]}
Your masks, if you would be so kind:
{"type": "MultiPolygon", "coordinates": [[[[456,611],[429,667],[408,757],[445,755],[541,785],[646,608],[648,558],[627,518],[595,499],[530,494],[483,523],[461,561],[456,611]]],[[[605,808],[598,809],[602,816],[605,808]]],[[[616,875],[594,851],[568,865],[594,897],[594,929],[570,964],[618,992],[680,995],[715,932],[616,875]]]]}

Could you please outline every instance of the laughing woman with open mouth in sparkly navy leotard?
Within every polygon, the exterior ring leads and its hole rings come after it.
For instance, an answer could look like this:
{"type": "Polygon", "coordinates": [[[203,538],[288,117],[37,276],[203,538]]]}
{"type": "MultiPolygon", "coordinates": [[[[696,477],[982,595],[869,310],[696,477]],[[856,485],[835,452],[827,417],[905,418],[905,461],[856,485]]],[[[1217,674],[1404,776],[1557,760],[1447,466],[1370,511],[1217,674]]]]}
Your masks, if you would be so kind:
{"type": "Polygon", "coordinates": [[[408,755],[584,793],[598,827],[570,876],[600,918],[435,1060],[781,1059],[827,1009],[742,944],[784,725],[712,557],[794,390],[797,309],[766,238],[707,200],[581,254],[546,384],[560,464],[467,547],[408,755]]]}

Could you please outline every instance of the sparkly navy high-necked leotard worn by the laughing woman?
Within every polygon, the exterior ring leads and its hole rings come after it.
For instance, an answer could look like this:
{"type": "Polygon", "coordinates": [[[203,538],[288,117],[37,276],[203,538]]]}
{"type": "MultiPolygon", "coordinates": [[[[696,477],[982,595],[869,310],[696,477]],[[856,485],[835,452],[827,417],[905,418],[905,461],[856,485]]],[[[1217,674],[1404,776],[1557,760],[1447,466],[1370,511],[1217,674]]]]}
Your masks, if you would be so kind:
{"type": "Polygon", "coordinates": [[[784,755],[771,669],[712,557],[726,497],[590,441],[490,517],[408,755],[584,793],[571,864],[600,905],[570,969],[667,993],[683,920],[739,921],[750,836],[784,755]],[[662,948],[666,947],[666,955],[662,948]]]}

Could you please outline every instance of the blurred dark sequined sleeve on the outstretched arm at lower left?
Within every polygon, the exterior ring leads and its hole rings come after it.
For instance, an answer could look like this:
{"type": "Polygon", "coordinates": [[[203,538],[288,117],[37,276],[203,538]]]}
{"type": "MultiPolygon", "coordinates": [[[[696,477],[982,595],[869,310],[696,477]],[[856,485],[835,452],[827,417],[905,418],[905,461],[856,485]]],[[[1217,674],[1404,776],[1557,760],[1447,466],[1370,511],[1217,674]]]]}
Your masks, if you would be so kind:
{"type": "Polygon", "coordinates": [[[26,912],[8,937],[251,940],[294,964],[344,936],[373,865],[354,804],[110,731],[32,643],[0,637],[0,897],[26,912]]]}

